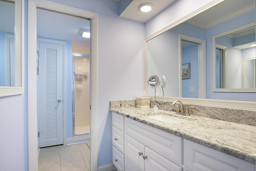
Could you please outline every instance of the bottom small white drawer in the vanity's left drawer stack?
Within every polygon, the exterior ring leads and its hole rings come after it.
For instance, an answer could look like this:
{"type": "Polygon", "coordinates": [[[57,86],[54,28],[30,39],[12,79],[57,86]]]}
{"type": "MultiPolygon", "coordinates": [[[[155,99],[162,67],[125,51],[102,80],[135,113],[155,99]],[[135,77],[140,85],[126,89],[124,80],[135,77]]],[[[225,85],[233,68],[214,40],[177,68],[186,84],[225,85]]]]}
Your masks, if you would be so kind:
{"type": "Polygon", "coordinates": [[[113,165],[118,169],[118,171],[124,171],[124,155],[118,151],[114,145],[112,146],[112,155],[113,155],[113,165]]]}

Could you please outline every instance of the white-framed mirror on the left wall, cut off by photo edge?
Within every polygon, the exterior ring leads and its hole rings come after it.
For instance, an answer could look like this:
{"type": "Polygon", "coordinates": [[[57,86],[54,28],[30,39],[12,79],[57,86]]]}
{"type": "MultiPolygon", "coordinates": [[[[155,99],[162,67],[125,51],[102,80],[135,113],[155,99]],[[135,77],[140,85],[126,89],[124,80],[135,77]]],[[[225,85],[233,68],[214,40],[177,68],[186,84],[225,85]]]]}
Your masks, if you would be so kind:
{"type": "Polygon", "coordinates": [[[0,97],[24,93],[23,0],[0,0],[0,97]]]}

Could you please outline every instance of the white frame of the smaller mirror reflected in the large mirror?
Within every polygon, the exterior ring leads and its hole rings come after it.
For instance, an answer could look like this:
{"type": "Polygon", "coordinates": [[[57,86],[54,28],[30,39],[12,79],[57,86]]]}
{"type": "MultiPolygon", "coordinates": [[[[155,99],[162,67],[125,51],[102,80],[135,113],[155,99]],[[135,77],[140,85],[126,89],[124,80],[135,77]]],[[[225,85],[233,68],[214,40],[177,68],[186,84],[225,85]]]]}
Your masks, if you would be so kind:
{"type": "MultiPolygon", "coordinates": [[[[238,30],[243,30],[248,27],[255,26],[255,22],[252,22],[250,24],[246,24],[244,26],[240,26],[237,28],[234,28],[232,30],[228,30],[226,32],[222,32],[220,34],[216,34],[212,36],[212,91],[214,92],[255,92],[256,88],[237,88],[237,89],[231,89],[231,88],[216,88],[216,38],[224,36],[226,34],[230,34],[233,32],[236,32],[238,30]]],[[[242,72],[242,71],[241,71],[242,72]]]]}

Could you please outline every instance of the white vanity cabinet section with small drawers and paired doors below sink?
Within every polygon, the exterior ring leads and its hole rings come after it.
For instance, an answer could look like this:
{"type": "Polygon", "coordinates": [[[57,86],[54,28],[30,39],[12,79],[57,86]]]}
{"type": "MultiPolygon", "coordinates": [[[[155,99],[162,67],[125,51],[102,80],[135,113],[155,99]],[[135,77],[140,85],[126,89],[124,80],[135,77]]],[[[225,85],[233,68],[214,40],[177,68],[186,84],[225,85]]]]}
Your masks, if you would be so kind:
{"type": "Polygon", "coordinates": [[[112,144],[118,171],[182,171],[182,138],[114,112],[112,144]]]}

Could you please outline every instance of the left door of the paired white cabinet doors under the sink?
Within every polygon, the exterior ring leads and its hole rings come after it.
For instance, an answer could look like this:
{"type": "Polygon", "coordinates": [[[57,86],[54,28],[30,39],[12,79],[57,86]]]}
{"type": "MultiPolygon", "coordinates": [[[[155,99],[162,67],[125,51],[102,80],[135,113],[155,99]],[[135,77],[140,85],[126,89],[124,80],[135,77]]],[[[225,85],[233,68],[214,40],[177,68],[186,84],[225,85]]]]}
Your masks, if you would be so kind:
{"type": "Polygon", "coordinates": [[[124,134],[124,168],[125,171],[144,171],[145,145],[124,134]],[[139,153],[142,153],[139,155],[139,153]]]}

